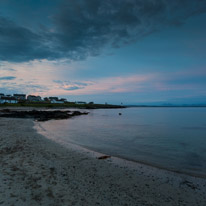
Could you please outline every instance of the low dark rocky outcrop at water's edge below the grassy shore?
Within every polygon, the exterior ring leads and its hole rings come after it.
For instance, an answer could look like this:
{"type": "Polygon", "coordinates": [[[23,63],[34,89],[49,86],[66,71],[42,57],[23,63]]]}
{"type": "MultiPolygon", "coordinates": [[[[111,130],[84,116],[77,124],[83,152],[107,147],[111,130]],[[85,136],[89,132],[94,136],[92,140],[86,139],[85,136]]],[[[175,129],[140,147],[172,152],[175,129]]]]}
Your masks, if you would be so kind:
{"type": "Polygon", "coordinates": [[[88,112],[80,111],[62,111],[62,110],[30,110],[30,111],[16,111],[10,109],[0,110],[0,117],[9,118],[28,118],[36,121],[48,121],[51,119],[68,119],[73,116],[87,115],[88,112]]]}

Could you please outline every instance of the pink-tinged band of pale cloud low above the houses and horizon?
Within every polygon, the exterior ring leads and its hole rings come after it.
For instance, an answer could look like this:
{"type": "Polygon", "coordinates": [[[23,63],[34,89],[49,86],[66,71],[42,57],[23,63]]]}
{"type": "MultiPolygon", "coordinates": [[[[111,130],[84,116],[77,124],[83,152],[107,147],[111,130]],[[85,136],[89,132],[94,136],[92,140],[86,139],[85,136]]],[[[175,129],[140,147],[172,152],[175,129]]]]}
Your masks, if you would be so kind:
{"type": "MultiPolygon", "coordinates": [[[[40,96],[62,96],[76,100],[85,95],[96,101],[104,97],[144,102],[191,96],[206,96],[205,68],[182,71],[153,71],[117,74],[110,77],[78,78],[56,65],[41,63],[10,63],[4,65],[0,76],[0,92],[6,94],[26,93],[40,96]],[[10,68],[10,69],[8,69],[10,68]],[[11,69],[12,68],[12,69],[11,69]],[[72,97],[73,96],[73,97],[72,97]],[[95,98],[94,98],[95,96],[95,98]],[[132,98],[131,98],[132,97],[132,98]],[[129,99],[131,98],[131,99],[129,99]]],[[[196,97],[195,97],[196,98],[196,97]]],[[[108,100],[109,101],[109,100],[108,100]]],[[[126,101],[126,100],[124,100],[126,101]]]]}

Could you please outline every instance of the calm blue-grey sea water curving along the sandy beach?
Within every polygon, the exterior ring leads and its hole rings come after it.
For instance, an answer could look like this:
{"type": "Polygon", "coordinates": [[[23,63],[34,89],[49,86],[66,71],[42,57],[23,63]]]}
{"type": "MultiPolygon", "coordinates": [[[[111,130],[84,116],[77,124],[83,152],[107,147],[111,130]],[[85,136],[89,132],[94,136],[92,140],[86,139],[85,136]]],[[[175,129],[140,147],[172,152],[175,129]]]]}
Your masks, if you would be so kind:
{"type": "Polygon", "coordinates": [[[170,170],[206,175],[206,108],[91,110],[41,123],[46,136],[170,170]],[[119,116],[118,113],[122,115],[119,116]]]}

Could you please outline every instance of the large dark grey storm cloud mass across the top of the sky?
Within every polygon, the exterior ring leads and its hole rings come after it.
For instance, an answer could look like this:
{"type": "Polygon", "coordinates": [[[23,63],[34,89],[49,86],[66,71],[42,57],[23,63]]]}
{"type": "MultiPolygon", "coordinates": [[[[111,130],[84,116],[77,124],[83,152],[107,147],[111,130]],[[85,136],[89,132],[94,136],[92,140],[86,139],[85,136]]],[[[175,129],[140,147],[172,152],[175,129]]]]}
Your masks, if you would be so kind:
{"type": "Polygon", "coordinates": [[[167,26],[180,26],[206,11],[206,0],[60,2],[56,13],[48,15],[49,26],[48,19],[42,19],[43,30],[0,17],[0,60],[84,59],[99,55],[106,46],[118,48],[167,26]]]}

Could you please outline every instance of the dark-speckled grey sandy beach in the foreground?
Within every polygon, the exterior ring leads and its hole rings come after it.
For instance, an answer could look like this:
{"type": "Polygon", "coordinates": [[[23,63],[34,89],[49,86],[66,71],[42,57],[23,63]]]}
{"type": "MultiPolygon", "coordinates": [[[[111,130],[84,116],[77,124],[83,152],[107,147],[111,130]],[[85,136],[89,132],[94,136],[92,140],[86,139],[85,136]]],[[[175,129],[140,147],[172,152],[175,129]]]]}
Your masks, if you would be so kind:
{"type": "Polygon", "coordinates": [[[206,205],[205,179],[99,160],[46,139],[33,126],[32,120],[0,118],[0,205],[206,205]]]}

